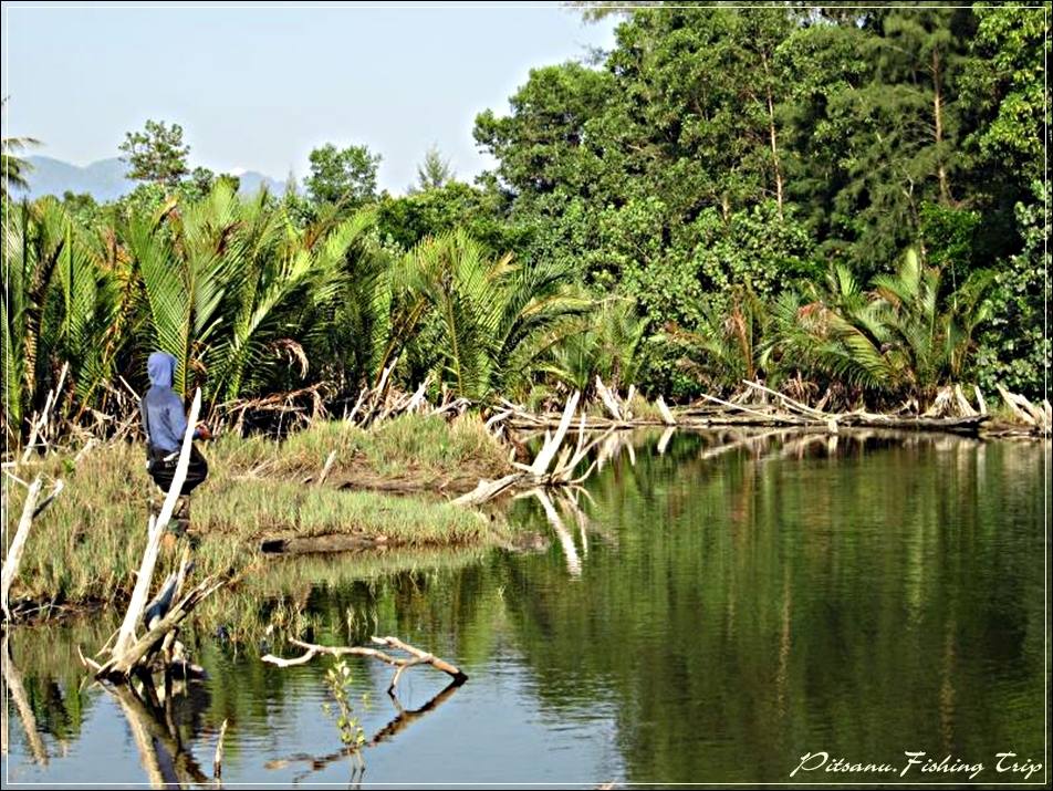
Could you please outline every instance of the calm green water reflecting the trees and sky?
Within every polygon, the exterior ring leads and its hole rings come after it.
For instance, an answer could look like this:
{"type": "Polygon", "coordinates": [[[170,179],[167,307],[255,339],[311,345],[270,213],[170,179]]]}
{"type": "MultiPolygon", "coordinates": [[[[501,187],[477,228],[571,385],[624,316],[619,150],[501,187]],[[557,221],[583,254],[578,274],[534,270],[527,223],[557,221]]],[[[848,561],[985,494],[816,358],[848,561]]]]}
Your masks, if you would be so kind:
{"type": "MultiPolygon", "coordinates": [[[[262,572],[268,620],[295,608],[341,645],[397,635],[470,677],[447,689],[414,668],[394,702],[388,668],[350,659],[369,742],[361,778],[323,710],[331,659],[279,669],[260,654],[295,649],[274,636],[201,628],[188,642],[210,678],[174,696],[166,720],[85,683],[76,646],[115,625],[94,617],[7,642],[4,785],[207,784],[225,719],[227,784],[775,783],[821,751],[827,767],[897,772],[905,751],[950,756],[993,783],[1024,779],[997,771],[999,752],[1046,762],[1049,444],[612,443],[576,502],[512,506],[515,549],[262,572]]],[[[906,779],[968,781],[920,768],[906,779]]]]}

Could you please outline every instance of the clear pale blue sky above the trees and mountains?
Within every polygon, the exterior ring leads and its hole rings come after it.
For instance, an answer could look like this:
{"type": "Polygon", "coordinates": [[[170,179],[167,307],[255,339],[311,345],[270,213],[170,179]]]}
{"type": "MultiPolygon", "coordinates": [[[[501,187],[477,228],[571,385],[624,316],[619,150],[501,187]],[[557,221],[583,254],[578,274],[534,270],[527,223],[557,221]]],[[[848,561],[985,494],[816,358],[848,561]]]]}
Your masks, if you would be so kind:
{"type": "Polygon", "coordinates": [[[402,192],[438,145],[461,178],[491,162],[476,114],[508,112],[532,67],[613,44],[614,18],[509,7],[3,3],[3,136],[86,165],[147,118],[183,126],[191,164],[302,178],[323,143],[383,155],[402,192]]]}

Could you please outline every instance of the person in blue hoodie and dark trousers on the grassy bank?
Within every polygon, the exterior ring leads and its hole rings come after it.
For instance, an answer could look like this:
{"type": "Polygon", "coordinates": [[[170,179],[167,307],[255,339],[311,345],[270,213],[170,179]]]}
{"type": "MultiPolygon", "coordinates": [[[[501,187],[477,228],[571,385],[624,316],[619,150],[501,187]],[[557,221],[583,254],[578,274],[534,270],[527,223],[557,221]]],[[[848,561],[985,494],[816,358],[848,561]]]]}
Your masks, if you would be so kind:
{"type": "MultiPolygon", "coordinates": [[[[176,373],[176,358],[167,352],[154,352],[146,361],[150,388],[139,405],[143,428],[146,431],[146,469],[154,482],[164,491],[171,487],[179,462],[179,449],[187,433],[187,416],[183,399],[171,388],[176,373]]],[[[211,439],[207,426],[194,429],[195,439],[211,439]]],[[[188,517],[187,496],[208,477],[208,462],[197,447],[190,448],[190,467],[180,492],[177,519],[185,522],[188,517]]]]}

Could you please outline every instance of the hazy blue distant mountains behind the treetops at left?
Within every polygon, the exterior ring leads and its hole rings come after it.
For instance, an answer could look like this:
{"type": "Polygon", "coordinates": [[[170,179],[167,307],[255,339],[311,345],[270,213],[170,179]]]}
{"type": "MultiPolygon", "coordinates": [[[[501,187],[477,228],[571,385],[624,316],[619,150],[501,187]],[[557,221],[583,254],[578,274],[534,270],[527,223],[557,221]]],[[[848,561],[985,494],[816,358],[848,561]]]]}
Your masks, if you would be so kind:
{"type": "MultiPolygon", "coordinates": [[[[87,192],[98,202],[106,202],[127,195],[137,184],[125,178],[127,165],[116,157],[100,159],[84,167],[51,157],[31,156],[25,159],[33,166],[25,179],[29,181],[30,198],[40,198],[44,195],[61,198],[66,190],[70,190],[77,195],[87,192]]],[[[256,170],[246,170],[237,175],[241,179],[238,191],[242,194],[254,195],[262,186],[279,195],[285,190],[284,181],[278,181],[256,170]]]]}

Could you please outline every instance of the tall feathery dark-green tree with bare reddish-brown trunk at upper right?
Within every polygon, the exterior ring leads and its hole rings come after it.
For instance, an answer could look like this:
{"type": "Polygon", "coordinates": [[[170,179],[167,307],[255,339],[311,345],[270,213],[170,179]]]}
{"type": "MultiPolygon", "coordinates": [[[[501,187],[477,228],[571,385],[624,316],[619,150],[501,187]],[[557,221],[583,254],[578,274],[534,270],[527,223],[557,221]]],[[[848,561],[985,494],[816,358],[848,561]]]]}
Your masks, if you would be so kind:
{"type": "Polygon", "coordinates": [[[957,100],[974,20],[969,8],[897,6],[847,24],[869,71],[830,96],[830,116],[851,128],[835,226],[876,271],[917,239],[926,201],[963,197],[957,100]]]}

